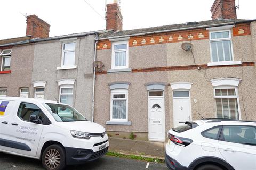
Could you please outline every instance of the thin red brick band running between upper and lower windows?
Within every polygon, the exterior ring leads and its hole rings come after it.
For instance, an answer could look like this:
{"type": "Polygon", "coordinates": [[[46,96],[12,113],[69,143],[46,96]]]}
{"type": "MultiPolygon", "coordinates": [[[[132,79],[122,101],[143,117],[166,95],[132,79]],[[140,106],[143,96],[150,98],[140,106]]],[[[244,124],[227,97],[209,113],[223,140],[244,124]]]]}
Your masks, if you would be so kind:
{"type": "MultiPolygon", "coordinates": [[[[185,66],[170,66],[170,67],[153,67],[153,68],[144,68],[144,69],[132,69],[132,73],[138,72],[153,72],[153,71],[172,71],[172,70],[193,70],[197,69],[198,66],[203,69],[212,69],[219,67],[239,67],[239,66],[254,66],[255,62],[243,62],[240,65],[216,65],[216,66],[207,66],[207,64],[201,65],[185,65],[185,66]]],[[[96,74],[107,74],[107,71],[96,72],[96,74]]]]}

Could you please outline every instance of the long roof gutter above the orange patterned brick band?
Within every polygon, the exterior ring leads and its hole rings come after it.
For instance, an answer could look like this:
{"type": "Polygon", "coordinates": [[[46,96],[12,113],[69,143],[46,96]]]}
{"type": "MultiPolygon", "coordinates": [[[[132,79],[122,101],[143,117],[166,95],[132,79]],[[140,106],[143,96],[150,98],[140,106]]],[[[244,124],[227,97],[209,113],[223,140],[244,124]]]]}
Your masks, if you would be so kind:
{"type": "Polygon", "coordinates": [[[246,23],[246,22],[253,22],[253,21],[256,21],[256,20],[234,21],[234,22],[211,24],[211,25],[201,25],[201,26],[197,26],[197,27],[177,28],[177,29],[171,29],[171,30],[162,30],[162,31],[144,32],[144,33],[134,33],[134,34],[123,35],[123,36],[98,38],[96,40],[107,40],[107,39],[116,39],[116,38],[132,37],[132,36],[143,36],[143,35],[150,35],[150,34],[155,34],[155,33],[165,33],[165,32],[172,32],[172,31],[183,31],[183,30],[190,30],[190,29],[197,29],[197,28],[220,27],[220,26],[224,26],[224,25],[234,25],[236,23],[246,23]]]}

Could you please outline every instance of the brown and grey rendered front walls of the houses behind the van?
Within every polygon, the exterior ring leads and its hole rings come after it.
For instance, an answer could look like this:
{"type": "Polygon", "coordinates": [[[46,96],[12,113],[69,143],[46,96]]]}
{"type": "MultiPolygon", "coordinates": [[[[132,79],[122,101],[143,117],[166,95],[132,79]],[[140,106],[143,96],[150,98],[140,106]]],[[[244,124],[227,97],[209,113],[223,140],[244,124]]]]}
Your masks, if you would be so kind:
{"type": "Polygon", "coordinates": [[[26,97],[61,100],[61,87],[68,86],[72,89],[68,94],[71,98],[70,104],[88,120],[92,120],[92,63],[94,40],[98,35],[99,31],[85,32],[0,45],[1,52],[12,50],[10,70],[0,72],[0,90],[7,91],[3,95],[19,97],[22,96],[21,89],[28,89],[26,97]],[[75,44],[74,66],[61,65],[63,45],[66,43],[75,44]]]}

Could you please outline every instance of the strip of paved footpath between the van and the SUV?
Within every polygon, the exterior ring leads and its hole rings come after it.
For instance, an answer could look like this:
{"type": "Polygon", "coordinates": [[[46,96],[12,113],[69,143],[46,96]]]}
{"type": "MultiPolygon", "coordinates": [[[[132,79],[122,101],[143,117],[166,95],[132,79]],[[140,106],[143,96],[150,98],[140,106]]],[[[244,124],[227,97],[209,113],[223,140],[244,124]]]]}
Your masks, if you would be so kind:
{"type": "Polygon", "coordinates": [[[110,137],[109,151],[164,159],[165,143],[110,137]]]}

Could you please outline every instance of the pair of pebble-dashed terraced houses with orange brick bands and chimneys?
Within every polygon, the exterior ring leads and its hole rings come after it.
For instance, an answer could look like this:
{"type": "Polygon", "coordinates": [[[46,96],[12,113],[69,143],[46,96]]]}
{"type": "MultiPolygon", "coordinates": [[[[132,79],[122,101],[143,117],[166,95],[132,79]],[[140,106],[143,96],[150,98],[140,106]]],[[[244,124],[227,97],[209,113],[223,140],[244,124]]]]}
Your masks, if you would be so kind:
{"type": "Polygon", "coordinates": [[[107,5],[115,32],[97,39],[94,121],[116,137],[165,141],[181,121],[255,120],[256,21],[237,19],[235,1],[215,0],[211,12],[123,31],[118,4],[107,5]]]}

